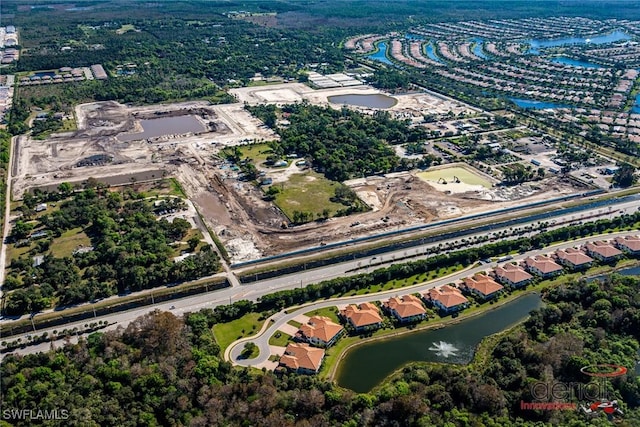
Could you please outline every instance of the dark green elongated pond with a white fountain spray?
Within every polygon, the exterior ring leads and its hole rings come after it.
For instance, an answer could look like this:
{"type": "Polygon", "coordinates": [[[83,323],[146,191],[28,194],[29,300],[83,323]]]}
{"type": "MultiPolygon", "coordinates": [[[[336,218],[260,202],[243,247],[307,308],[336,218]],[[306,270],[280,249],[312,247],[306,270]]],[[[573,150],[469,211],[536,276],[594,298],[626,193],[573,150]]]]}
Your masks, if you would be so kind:
{"type": "Polygon", "coordinates": [[[442,329],[410,332],[356,346],[340,362],[337,383],[364,393],[410,362],[469,363],[483,338],[526,319],[529,312],[541,306],[538,294],[527,294],[442,329]]]}

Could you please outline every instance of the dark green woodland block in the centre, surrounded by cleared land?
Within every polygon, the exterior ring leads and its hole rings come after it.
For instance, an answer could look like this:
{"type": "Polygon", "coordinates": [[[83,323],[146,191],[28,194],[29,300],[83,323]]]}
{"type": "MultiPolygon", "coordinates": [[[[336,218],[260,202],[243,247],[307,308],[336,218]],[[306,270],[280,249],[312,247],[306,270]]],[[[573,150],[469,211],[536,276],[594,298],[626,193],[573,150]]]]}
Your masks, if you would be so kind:
{"type": "Polygon", "coordinates": [[[414,162],[396,156],[389,144],[416,142],[426,133],[384,111],[371,117],[348,108],[334,110],[307,103],[281,110],[274,105],[246,108],[280,134],[280,141],[272,144],[276,154],[308,158],[314,169],[334,181],[428,166],[433,161],[431,157],[414,162]],[[278,126],[278,116],[286,117],[289,124],[278,126]]]}

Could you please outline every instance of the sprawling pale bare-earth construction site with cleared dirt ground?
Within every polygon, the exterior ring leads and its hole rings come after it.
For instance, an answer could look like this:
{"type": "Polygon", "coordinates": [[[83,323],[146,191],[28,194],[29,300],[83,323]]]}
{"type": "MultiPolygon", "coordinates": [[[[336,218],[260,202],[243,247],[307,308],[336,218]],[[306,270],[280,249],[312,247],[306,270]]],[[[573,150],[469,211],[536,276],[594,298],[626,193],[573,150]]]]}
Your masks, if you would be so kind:
{"type": "MultiPolygon", "coordinates": [[[[289,85],[291,90],[287,93],[298,93],[294,90],[298,86],[294,85],[289,85]]],[[[269,102],[296,101],[282,99],[280,87],[271,94],[269,90],[259,88],[265,100],[270,98],[269,102]]],[[[375,91],[367,87],[361,90],[375,91]]],[[[351,94],[354,88],[304,91],[310,94],[304,99],[325,103],[328,94],[351,94]]],[[[249,99],[249,93],[255,97],[257,89],[247,90],[244,101],[249,99]]],[[[427,102],[425,99],[431,98],[424,93],[413,98],[403,96],[406,99],[393,109],[410,106],[419,109],[420,114],[430,114],[434,105],[445,102],[427,102]]],[[[238,98],[243,101],[242,96],[238,98]]],[[[460,103],[447,108],[473,111],[460,103]]],[[[463,171],[456,169],[456,179],[447,179],[446,175],[434,179],[420,171],[354,179],[345,184],[370,208],[367,212],[292,226],[272,201],[265,200],[260,187],[230,173],[228,162],[220,156],[220,151],[228,146],[278,139],[277,134],[244,110],[242,102],[145,107],[100,102],[79,105],[75,113],[78,122],[75,132],[54,134],[46,140],[27,136],[17,139],[12,167],[14,199],[35,188],[52,190],[62,182],[81,185],[88,178],[125,185],[175,177],[234,263],[441,219],[522,206],[584,192],[587,188],[561,175],[506,187],[468,165],[442,165],[441,169],[456,167],[463,171]]],[[[295,161],[277,171],[260,166],[258,169],[274,182],[312,172],[308,166],[296,166],[295,161]]]]}

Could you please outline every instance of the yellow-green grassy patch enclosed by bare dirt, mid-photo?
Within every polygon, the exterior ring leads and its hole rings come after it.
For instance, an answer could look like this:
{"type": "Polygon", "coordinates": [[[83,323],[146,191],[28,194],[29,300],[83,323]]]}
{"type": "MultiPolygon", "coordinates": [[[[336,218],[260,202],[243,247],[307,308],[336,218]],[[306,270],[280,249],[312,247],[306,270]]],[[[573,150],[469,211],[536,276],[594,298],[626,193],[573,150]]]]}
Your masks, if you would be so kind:
{"type": "Polygon", "coordinates": [[[276,185],[281,191],[275,203],[289,219],[293,219],[294,211],[311,212],[316,219],[317,214],[322,214],[325,209],[329,210],[329,216],[333,216],[338,209],[346,208],[330,200],[338,183],[317,172],[293,174],[286,183],[276,185]]]}

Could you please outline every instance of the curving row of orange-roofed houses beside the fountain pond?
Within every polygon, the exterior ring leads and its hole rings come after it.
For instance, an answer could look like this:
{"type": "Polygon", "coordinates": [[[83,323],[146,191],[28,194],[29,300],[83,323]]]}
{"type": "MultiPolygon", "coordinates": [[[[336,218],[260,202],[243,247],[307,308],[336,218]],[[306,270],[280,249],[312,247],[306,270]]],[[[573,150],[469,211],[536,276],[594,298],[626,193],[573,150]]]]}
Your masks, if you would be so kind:
{"type": "MultiPolygon", "coordinates": [[[[419,322],[427,317],[423,301],[438,309],[443,315],[453,314],[469,306],[465,293],[489,300],[499,295],[504,286],[526,286],[533,280],[534,275],[543,279],[550,278],[561,274],[564,268],[589,268],[595,260],[611,262],[625,253],[632,256],[640,255],[640,237],[618,237],[611,242],[594,241],[584,244],[581,248],[559,249],[551,256],[528,257],[522,265],[508,263],[496,267],[489,274],[477,273],[472,277],[466,277],[459,286],[444,285],[429,289],[422,298],[411,294],[392,297],[382,303],[382,310],[401,324],[419,322]]],[[[348,305],[340,310],[339,317],[356,333],[375,330],[383,324],[380,309],[371,302],[348,305]]],[[[343,334],[342,325],[328,317],[313,316],[307,324],[300,326],[295,339],[301,342],[287,346],[285,354],[280,358],[280,365],[298,373],[317,373],[324,360],[324,348],[335,344],[343,334]]]]}

